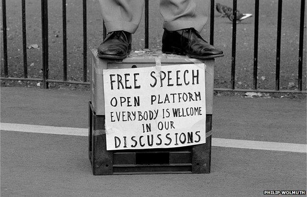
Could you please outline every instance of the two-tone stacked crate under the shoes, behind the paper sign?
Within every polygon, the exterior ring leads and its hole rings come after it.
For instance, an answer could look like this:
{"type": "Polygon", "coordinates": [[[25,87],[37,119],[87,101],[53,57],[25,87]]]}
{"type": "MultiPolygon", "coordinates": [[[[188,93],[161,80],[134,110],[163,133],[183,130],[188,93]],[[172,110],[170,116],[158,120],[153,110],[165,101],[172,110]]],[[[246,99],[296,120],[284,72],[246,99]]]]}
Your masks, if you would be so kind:
{"type": "Polygon", "coordinates": [[[92,50],[91,101],[89,102],[89,157],[94,175],[133,173],[210,173],[214,59],[196,60],[185,56],[151,52],[132,53],[123,61],[97,58],[92,50]],[[206,143],[194,146],[145,150],[106,150],[103,69],[204,63],[206,65],[206,143]]]}

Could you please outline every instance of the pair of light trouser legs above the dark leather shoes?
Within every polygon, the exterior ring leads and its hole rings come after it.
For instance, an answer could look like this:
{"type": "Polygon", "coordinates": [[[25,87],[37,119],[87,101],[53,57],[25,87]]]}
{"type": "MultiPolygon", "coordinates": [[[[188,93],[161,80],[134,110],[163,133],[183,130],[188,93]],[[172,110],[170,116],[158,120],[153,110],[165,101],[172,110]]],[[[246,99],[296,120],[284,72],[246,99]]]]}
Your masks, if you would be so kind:
{"type": "MultiPolygon", "coordinates": [[[[139,26],[144,0],[99,0],[107,32],[134,33],[139,26]]],[[[207,22],[209,0],[160,0],[163,28],[176,31],[194,28],[200,32],[207,22]]]]}

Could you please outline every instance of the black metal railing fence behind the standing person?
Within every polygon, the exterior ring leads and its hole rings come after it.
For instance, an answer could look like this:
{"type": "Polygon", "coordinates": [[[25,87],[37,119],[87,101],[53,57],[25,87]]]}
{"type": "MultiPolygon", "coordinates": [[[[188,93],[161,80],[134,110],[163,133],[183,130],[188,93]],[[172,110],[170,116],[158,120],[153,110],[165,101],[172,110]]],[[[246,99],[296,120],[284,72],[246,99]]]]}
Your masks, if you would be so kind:
{"type": "MultiPolygon", "coordinates": [[[[68,83],[68,84],[90,84],[87,82],[87,1],[83,0],[83,81],[67,80],[67,33],[66,33],[66,0],[62,0],[62,28],[63,28],[63,80],[48,79],[48,0],[41,0],[41,22],[42,22],[42,78],[28,78],[27,66],[27,40],[26,40],[26,5],[25,0],[22,3],[22,34],[23,34],[23,76],[21,78],[8,77],[7,64],[7,33],[6,33],[6,0],[2,0],[2,27],[3,27],[3,66],[4,77],[1,80],[21,80],[21,81],[42,81],[43,87],[48,88],[49,82],[68,83]]],[[[210,4],[210,44],[214,44],[214,13],[215,0],[210,4]]],[[[231,88],[215,88],[215,91],[236,91],[236,92],[272,92],[272,93],[304,93],[302,90],[302,72],[303,72],[303,44],[304,44],[304,16],[305,0],[301,0],[300,10],[300,35],[299,35],[299,54],[298,54],[298,89],[299,90],[280,90],[280,41],[281,41],[281,14],[282,0],[278,0],[277,12],[277,41],[276,41],[276,72],[275,90],[259,90],[257,88],[257,68],[258,68],[258,27],[259,27],[259,0],[255,0],[255,21],[254,21],[254,57],[253,57],[253,89],[236,89],[235,71],[236,71],[236,37],[237,37],[237,0],[233,0],[233,22],[232,22],[232,53],[231,53],[231,88]]],[[[106,36],[106,29],[103,27],[103,37],[106,36]]],[[[145,0],[145,48],[149,48],[149,0],[145,0]]]]}

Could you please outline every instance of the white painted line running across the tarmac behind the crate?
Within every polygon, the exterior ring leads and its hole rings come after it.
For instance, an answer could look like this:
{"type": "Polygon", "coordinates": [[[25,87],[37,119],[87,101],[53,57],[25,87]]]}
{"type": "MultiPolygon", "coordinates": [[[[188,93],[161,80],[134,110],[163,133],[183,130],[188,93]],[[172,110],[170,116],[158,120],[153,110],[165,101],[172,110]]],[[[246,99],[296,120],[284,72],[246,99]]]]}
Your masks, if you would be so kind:
{"type": "MultiPolygon", "coordinates": [[[[54,126],[41,126],[41,125],[0,123],[0,130],[88,136],[88,129],[72,128],[72,127],[54,127],[54,126]]],[[[212,146],[307,153],[306,144],[295,144],[295,143],[212,138],[212,146]]]]}

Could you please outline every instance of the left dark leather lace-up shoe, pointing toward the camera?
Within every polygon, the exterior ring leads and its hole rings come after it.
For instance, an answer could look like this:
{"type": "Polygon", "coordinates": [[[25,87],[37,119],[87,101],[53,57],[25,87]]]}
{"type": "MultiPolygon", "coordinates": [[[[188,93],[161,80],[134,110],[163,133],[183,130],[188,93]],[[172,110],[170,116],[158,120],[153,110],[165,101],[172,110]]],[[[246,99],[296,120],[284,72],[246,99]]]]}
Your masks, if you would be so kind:
{"type": "Polygon", "coordinates": [[[131,41],[131,33],[124,31],[110,32],[99,45],[97,49],[97,57],[123,60],[131,52],[131,41]]]}

